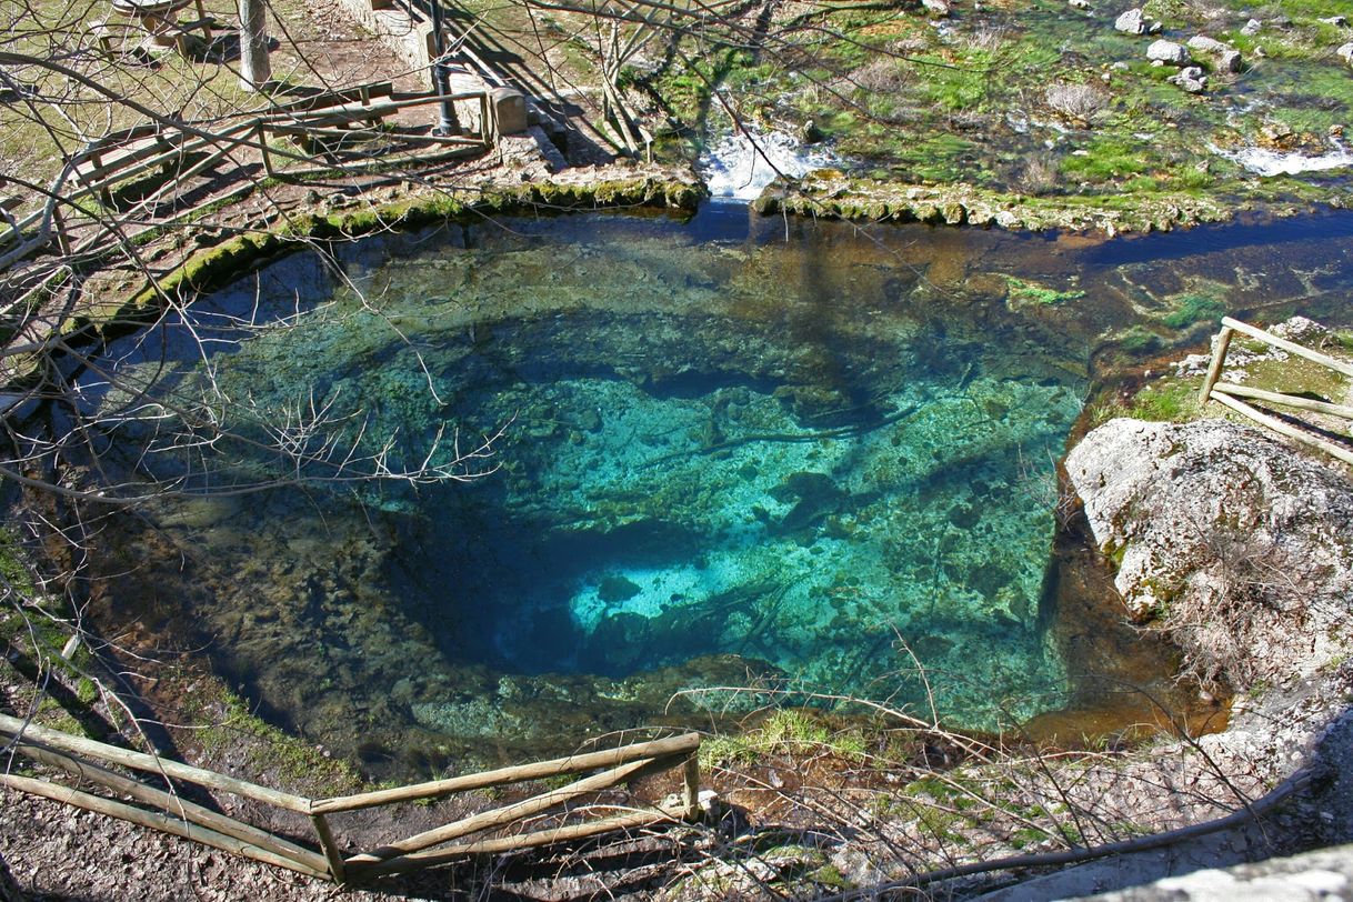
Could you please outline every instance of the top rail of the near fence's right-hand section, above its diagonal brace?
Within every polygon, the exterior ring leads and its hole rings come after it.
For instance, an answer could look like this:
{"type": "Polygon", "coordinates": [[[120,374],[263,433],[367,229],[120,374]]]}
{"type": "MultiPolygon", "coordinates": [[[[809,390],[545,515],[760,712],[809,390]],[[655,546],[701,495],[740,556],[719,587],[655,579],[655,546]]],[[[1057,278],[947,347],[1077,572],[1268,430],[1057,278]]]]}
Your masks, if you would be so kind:
{"type": "Polygon", "coordinates": [[[521,783],[524,780],[540,780],[561,774],[582,774],[595,771],[601,767],[614,767],[640,759],[668,757],[672,755],[691,755],[700,748],[700,733],[686,733],[666,740],[652,740],[649,742],[636,742],[622,745],[617,749],[602,752],[586,752],[568,757],[556,757],[549,761],[536,761],[533,764],[520,764],[517,767],[503,767],[495,771],[480,774],[467,774],[445,780],[432,780],[428,783],[414,783],[392,790],[377,790],[375,792],[360,792],[357,795],[340,795],[330,799],[318,799],[311,809],[317,814],[330,814],[333,811],[353,811],[368,809],[391,802],[413,802],[418,799],[433,799],[453,792],[468,792],[471,790],[484,790],[491,786],[506,783],[521,783]]]}

